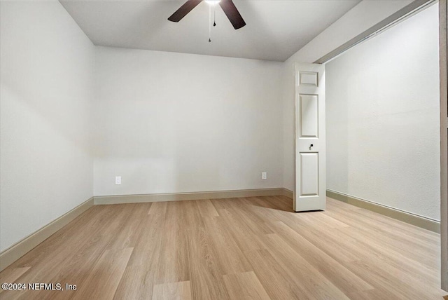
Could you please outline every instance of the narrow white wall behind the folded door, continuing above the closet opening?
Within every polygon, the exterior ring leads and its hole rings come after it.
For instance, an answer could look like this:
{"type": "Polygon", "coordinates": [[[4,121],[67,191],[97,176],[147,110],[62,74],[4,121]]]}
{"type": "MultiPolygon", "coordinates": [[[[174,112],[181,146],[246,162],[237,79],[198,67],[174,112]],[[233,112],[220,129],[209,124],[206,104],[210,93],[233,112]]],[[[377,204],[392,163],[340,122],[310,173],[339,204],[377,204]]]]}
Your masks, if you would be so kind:
{"type": "Polygon", "coordinates": [[[295,62],[315,62],[353,39],[412,0],[363,0],[284,62],[283,67],[283,186],[294,189],[295,62]]]}

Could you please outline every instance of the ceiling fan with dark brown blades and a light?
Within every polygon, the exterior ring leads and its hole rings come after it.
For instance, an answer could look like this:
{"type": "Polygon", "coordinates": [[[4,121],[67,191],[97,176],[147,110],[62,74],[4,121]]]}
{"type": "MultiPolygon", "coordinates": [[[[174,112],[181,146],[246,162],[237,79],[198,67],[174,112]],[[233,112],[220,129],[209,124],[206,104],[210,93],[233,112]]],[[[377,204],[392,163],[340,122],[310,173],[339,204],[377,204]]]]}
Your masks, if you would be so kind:
{"type": "MultiPolygon", "coordinates": [[[[223,11],[225,15],[227,15],[227,18],[229,18],[230,22],[232,23],[233,27],[235,29],[239,29],[241,27],[244,27],[246,25],[246,22],[244,22],[243,18],[239,14],[239,11],[237,10],[237,7],[233,3],[232,0],[221,0],[221,1],[208,1],[209,4],[216,4],[218,3],[221,8],[223,8],[223,11]]],[[[190,11],[193,10],[198,4],[200,4],[202,0],[188,0],[186,1],[183,6],[181,6],[176,12],[174,12],[168,20],[172,22],[179,22],[182,20],[183,17],[185,17],[190,11]]]]}

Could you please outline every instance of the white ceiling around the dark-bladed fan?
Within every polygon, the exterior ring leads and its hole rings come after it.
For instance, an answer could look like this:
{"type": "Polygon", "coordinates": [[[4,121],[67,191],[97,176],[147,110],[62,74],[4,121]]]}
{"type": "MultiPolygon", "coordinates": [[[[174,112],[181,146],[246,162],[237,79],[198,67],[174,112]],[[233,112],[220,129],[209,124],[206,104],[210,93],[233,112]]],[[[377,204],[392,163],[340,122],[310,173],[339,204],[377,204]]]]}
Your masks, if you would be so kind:
{"type": "Polygon", "coordinates": [[[167,18],[186,0],[59,0],[98,46],[284,61],[360,0],[234,0],[247,25],[235,30],[216,6],[209,43],[209,5],[179,23],[167,18]]]}

